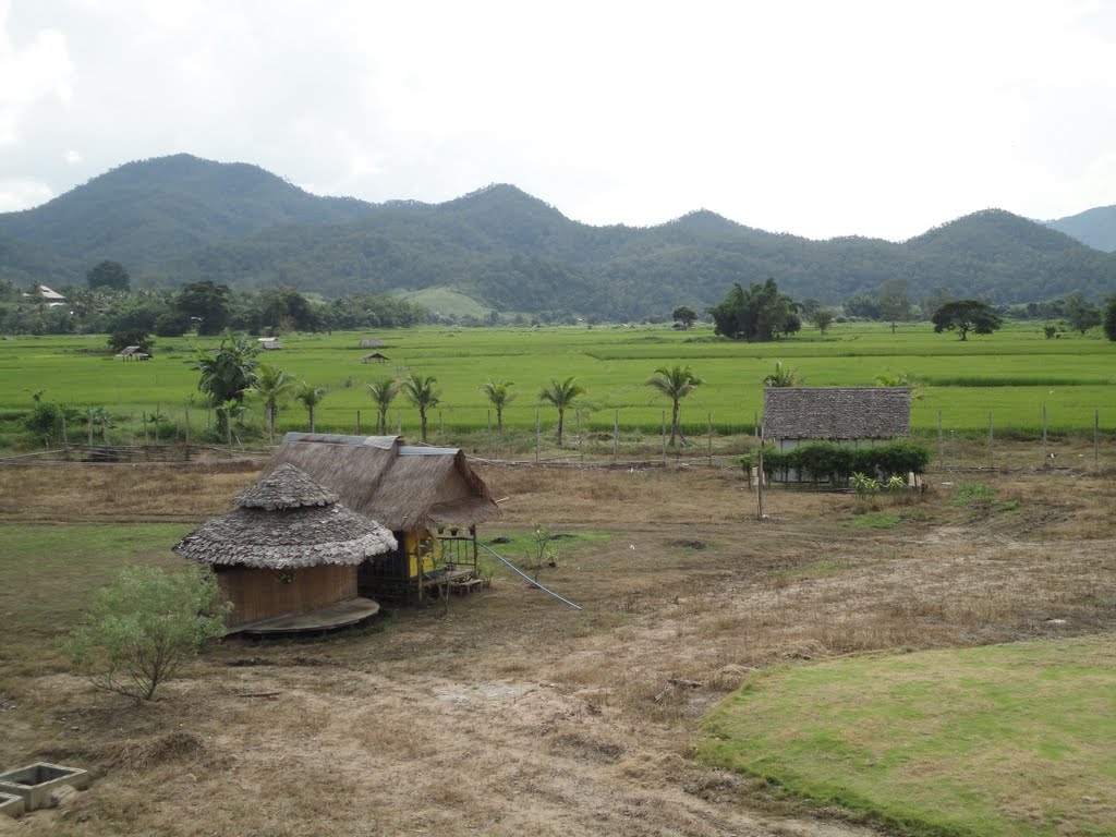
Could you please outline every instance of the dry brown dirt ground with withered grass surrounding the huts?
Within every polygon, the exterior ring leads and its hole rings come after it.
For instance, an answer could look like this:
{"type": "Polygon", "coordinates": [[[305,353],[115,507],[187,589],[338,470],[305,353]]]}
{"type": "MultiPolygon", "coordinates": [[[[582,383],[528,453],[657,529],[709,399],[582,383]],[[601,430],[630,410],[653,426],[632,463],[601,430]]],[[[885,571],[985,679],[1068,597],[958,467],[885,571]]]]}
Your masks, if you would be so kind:
{"type": "MultiPolygon", "coordinates": [[[[121,473],[2,470],[0,520],[200,522],[254,471],[121,473]]],[[[703,713],[764,666],[1116,627],[1112,474],[940,475],[875,509],[775,490],[762,521],[732,472],[483,475],[508,500],[482,539],[609,535],[540,579],[583,610],[498,573],[448,614],[227,641],[138,706],[47,655],[0,687],[0,763],[96,780],[0,834],[868,835],[694,762],[703,713]],[[959,502],[978,480],[994,502],[959,502]]]]}

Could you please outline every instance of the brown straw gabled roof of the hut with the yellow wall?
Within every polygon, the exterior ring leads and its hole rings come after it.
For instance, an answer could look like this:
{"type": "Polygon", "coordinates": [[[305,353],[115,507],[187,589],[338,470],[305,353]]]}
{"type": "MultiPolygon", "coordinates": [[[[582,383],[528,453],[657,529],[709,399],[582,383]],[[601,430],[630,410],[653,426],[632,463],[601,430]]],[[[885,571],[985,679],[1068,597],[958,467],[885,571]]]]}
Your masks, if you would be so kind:
{"type": "Polygon", "coordinates": [[[345,506],[393,531],[473,526],[500,516],[456,448],[408,446],[398,436],[288,433],[264,472],[282,463],[306,471],[345,506]]]}

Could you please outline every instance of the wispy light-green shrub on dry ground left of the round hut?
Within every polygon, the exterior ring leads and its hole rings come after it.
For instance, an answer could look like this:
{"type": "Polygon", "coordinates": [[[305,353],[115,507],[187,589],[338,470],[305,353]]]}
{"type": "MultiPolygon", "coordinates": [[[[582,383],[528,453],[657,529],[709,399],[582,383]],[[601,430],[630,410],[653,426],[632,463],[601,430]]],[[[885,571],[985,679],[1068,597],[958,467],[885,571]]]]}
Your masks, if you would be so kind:
{"type": "Polygon", "coordinates": [[[208,571],[125,567],[96,591],[62,648],[97,689],[151,700],[160,683],[224,634],[228,608],[208,571]]]}

